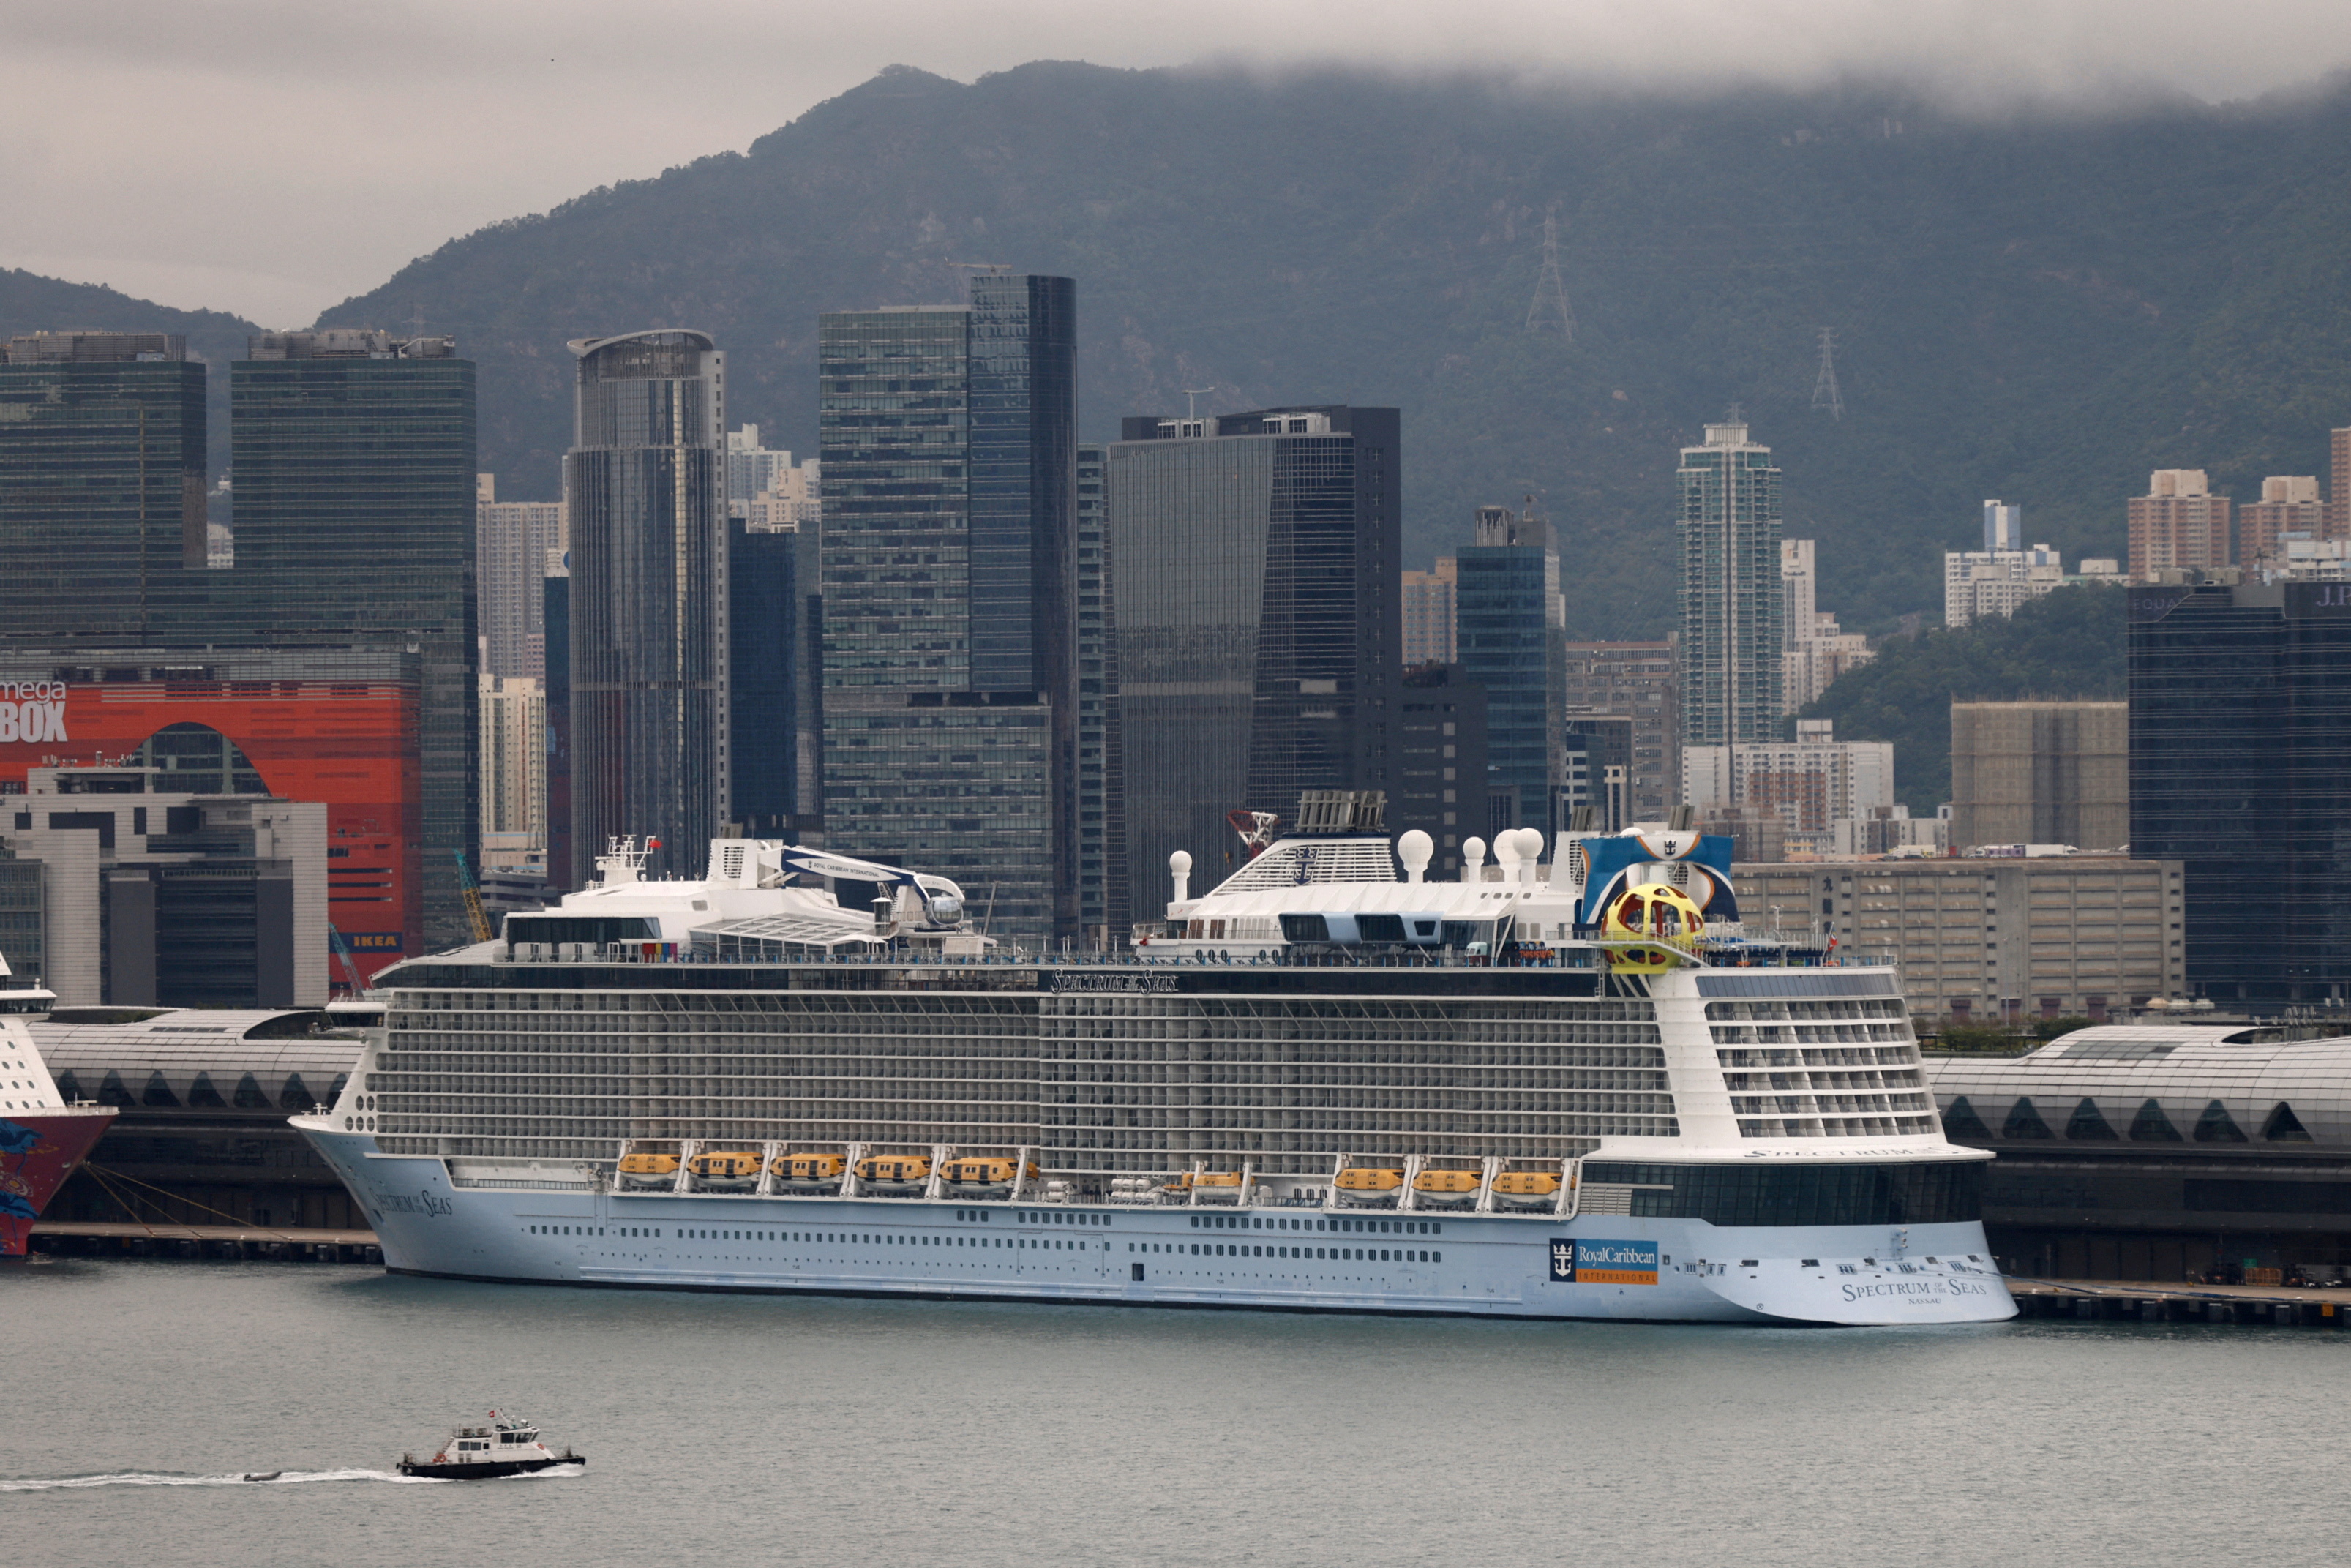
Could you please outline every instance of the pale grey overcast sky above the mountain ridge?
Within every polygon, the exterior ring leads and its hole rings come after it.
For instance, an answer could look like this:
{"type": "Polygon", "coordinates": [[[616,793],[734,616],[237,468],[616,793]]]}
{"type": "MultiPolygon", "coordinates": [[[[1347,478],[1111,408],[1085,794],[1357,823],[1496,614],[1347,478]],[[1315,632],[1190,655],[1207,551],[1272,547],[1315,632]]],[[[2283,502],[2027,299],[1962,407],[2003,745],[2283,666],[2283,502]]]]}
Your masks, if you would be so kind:
{"type": "Polygon", "coordinates": [[[889,63],[1895,68],[2208,101],[2351,63],[2346,0],[0,0],[0,266],[308,324],[451,235],[741,150],[889,63]],[[1495,63],[1507,61],[1507,66],[1495,63]]]}

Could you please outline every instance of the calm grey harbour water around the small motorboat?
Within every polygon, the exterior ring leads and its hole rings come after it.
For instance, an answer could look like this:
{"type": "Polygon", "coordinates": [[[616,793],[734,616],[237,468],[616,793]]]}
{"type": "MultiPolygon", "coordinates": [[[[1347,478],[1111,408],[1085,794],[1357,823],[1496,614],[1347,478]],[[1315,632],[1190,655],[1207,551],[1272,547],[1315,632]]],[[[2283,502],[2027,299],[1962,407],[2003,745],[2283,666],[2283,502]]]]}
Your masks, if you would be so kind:
{"type": "Polygon", "coordinates": [[[0,1269],[0,1561],[2342,1563],[2351,1331],[1759,1331],[0,1269]],[[583,1474],[404,1483],[491,1406],[583,1474]],[[228,1472],[287,1472],[277,1483],[228,1472]]]}

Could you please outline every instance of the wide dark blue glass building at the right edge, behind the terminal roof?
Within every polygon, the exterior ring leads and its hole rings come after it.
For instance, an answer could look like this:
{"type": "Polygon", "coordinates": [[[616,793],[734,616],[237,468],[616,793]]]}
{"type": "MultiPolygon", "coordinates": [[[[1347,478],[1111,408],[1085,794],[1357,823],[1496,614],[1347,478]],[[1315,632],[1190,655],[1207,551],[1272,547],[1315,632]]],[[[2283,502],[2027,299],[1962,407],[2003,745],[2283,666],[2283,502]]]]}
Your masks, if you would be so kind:
{"type": "MultiPolygon", "coordinates": [[[[2186,865],[2189,990],[2351,1001],[2351,583],[2130,590],[2130,853],[2186,865]]],[[[2125,922],[2132,917],[2125,914],[2125,922]]]]}

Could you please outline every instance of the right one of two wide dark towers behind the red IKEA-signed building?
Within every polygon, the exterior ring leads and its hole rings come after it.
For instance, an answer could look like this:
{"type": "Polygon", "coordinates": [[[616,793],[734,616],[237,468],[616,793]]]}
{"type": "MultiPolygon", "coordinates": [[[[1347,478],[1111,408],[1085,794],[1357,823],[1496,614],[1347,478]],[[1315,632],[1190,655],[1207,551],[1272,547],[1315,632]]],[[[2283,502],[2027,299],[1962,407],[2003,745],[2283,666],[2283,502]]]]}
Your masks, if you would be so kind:
{"type": "Polygon", "coordinates": [[[237,611],[270,646],[383,639],[421,658],[423,940],[465,940],[480,844],[475,374],[440,336],[266,331],[228,376],[237,611]]]}

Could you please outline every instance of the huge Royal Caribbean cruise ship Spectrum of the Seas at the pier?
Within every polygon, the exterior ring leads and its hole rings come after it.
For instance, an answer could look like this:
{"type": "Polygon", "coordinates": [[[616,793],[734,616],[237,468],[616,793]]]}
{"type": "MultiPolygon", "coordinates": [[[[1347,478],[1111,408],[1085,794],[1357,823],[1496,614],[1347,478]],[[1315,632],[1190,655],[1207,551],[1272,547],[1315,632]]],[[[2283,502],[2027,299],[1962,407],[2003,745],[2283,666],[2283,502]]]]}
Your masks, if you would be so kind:
{"type": "Polygon", "coordinates": [[[1378,797],[1117,957],[962,889],[717,839],[379,980],[294,1124],[456,1279],[1281,1312],[2015,1314],[1895,973],[1740,919],[1686,823],[1476,839],[1378,797]]]}

